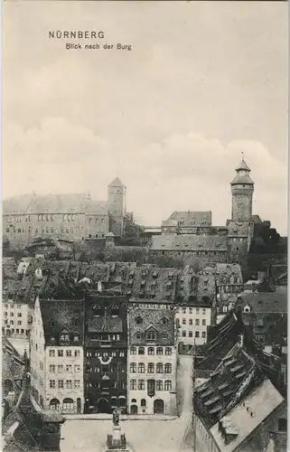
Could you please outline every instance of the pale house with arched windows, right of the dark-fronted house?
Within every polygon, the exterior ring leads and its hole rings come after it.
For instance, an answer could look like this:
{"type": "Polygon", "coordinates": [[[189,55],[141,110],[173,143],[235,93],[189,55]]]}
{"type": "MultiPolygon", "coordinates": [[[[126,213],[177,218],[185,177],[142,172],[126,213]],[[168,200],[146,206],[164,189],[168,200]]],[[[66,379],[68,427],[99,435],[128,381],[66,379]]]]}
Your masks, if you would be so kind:
{"type": "Polygon", "coordinates": [[[174,313],[128,310],[128,410],[131,414],[176,414],[174,313]]]}

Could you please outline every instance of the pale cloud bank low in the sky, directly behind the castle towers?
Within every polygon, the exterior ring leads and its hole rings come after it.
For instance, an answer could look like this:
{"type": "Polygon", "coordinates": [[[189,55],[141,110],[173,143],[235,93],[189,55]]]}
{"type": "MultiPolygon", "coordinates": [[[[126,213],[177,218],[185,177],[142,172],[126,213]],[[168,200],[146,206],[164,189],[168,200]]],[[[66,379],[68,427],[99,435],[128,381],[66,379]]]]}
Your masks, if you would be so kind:
{"type": "Polygon", "coordinates": [[[44,118],[39,127],[5,127],[4,195],[80,193],[106,199],[118,175],[127,186],[127,208],[146,224],[160,224],[174,210],[211,210],[215,224],[230,216],[229,183],[241,152],[255,181],[253,211],[286,229],[286,168],[257,141],[218,138],[190,131],[138,147],[112,143],[89,127],[44,118]]]}

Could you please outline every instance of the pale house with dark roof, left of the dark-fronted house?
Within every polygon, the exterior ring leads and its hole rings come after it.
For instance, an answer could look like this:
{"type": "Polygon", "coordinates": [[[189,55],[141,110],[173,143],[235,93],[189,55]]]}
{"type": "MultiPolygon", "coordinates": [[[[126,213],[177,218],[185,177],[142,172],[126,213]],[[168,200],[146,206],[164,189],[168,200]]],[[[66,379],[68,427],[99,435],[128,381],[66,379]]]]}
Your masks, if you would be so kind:
{"type": "Polygon", "coordinates": [[[84,300],[36,298],[30,337],[33,397],[43,409],[83,412],[84,300]]]}

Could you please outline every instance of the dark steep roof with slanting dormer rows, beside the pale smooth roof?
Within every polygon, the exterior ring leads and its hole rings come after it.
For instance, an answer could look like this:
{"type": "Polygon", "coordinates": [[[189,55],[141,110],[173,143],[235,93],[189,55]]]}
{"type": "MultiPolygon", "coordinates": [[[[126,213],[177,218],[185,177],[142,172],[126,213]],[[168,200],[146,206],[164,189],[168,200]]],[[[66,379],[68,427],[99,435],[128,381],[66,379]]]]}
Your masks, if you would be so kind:
{"type": "Polygon", "coordinates": [[[256,362],[240,344],[235,344],[210,373],[210,379],[194,391],[194,407],[199,418],[213,426],[240,400],[258,379],[263,378],[256,362]]]}

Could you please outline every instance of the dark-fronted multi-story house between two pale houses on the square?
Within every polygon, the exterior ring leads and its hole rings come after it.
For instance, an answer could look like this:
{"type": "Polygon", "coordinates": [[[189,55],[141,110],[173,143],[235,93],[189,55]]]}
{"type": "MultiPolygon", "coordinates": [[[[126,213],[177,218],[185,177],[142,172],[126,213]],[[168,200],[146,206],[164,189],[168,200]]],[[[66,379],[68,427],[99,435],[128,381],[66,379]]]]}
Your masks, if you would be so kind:
{"type": "MultiPolygon", "coordinates": [[[[98,287],[101,289],[101,287],[98,287]]],[[[126,411],[126,298],[99,292],[86,301],[85,411],[126,411]]]]}

